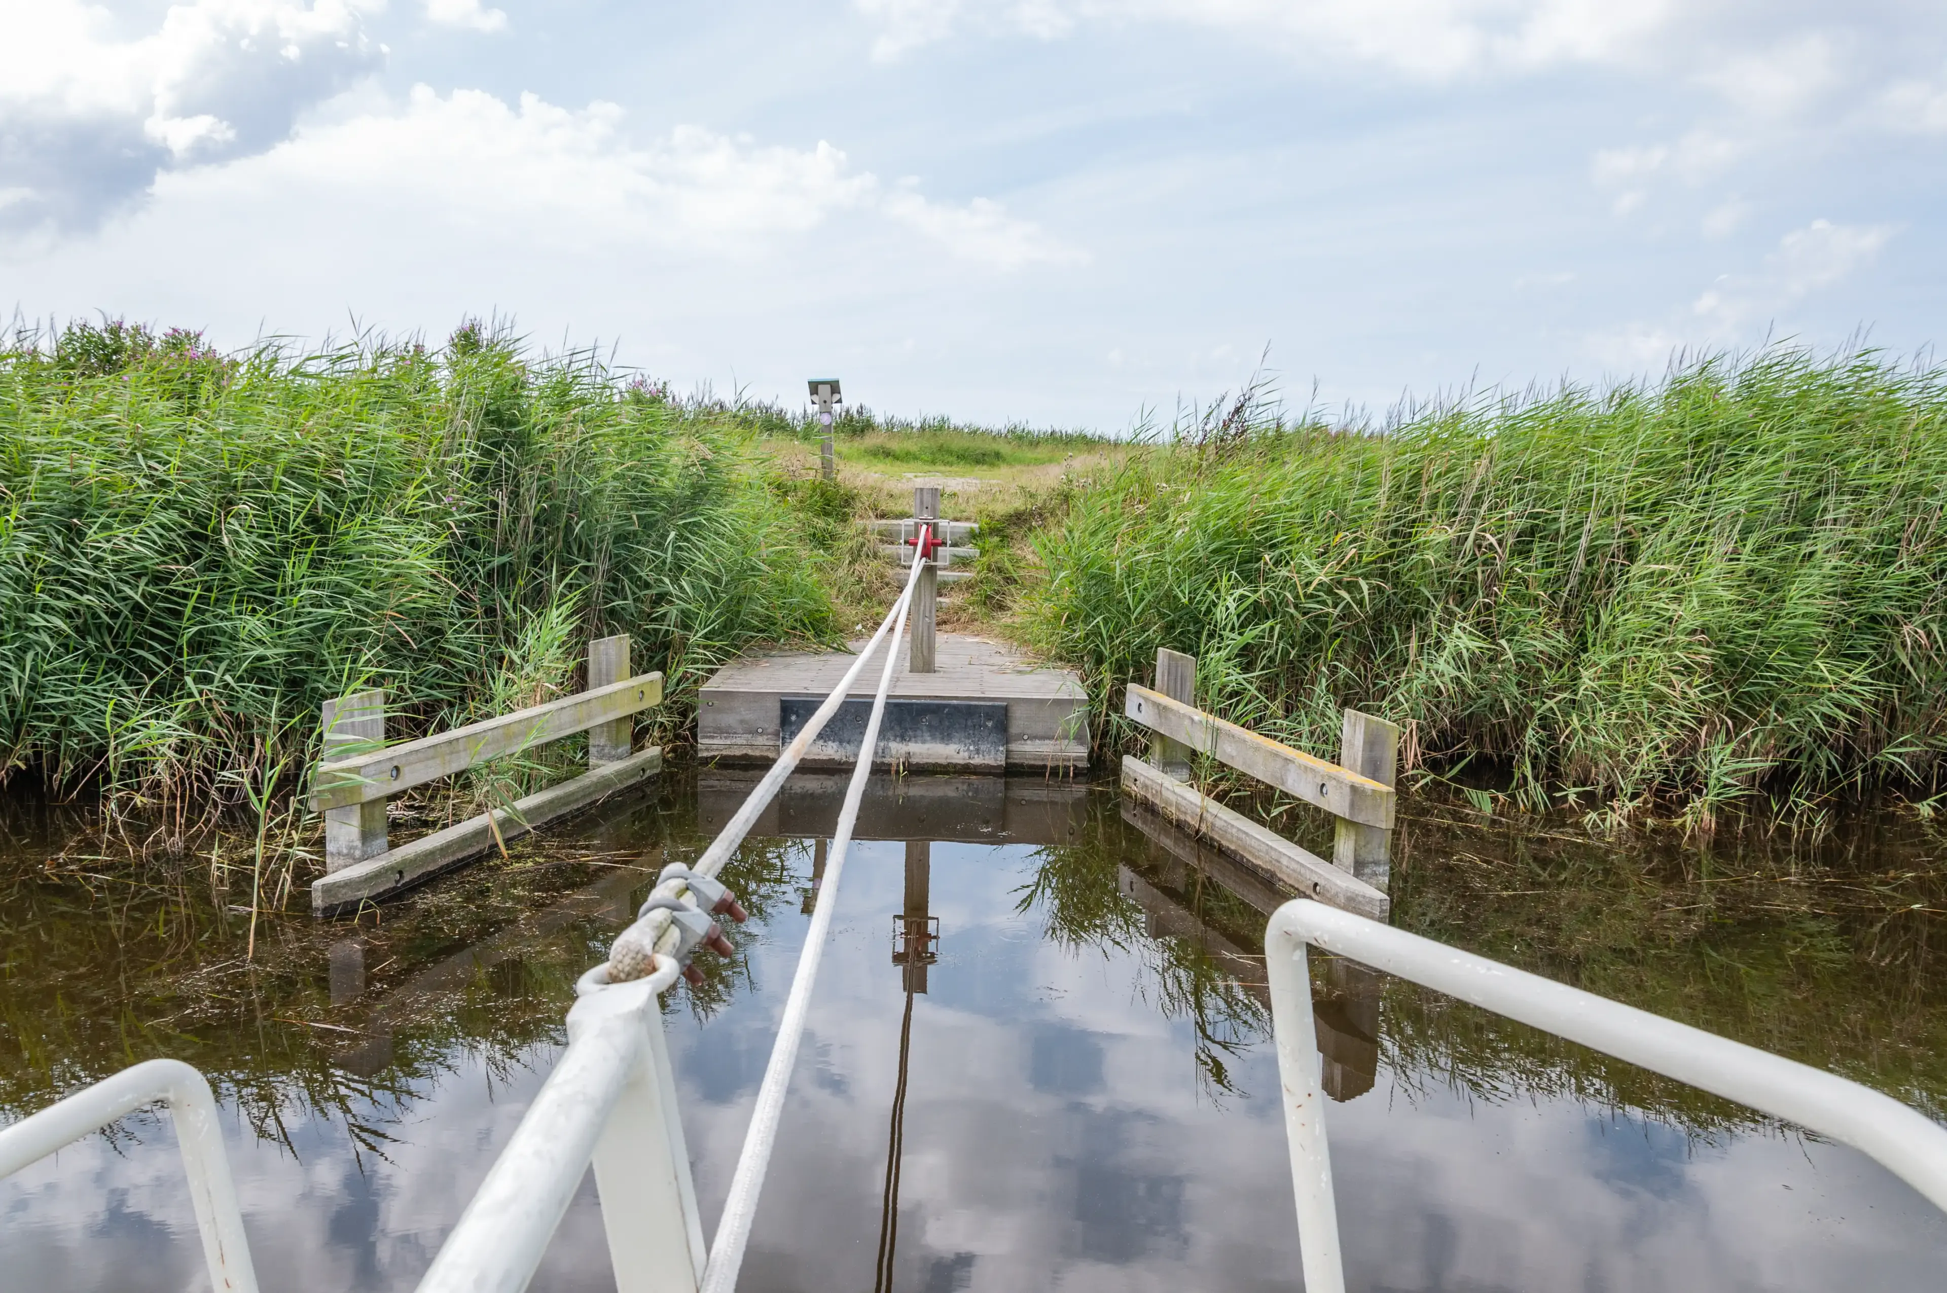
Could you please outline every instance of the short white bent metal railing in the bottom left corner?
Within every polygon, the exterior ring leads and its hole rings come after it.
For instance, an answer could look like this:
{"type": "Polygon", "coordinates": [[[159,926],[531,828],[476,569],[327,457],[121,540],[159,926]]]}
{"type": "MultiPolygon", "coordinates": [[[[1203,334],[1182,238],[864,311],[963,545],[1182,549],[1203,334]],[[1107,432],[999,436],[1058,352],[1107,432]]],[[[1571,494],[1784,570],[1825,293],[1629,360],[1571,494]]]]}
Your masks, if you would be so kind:
{"type": "Polygon", "coordinates": [[[0,1129],[0,1176],[12,1176],[158,1100],[169,1106],[175,1124],[210,1287],[216,1293],[257,1293],[224,1133],[216,1126],[216,1100],[202,1075],[181,1059],[146,1059],[0,1129]]]}

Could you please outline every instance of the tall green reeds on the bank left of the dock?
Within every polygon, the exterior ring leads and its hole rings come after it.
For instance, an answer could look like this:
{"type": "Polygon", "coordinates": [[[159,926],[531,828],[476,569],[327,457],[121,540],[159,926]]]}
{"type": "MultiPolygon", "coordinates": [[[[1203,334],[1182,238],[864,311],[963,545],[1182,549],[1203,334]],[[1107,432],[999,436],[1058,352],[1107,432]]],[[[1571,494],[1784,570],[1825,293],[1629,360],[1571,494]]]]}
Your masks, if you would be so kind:
{"type": "Polygon", "coordinates": [[[409,736],[574,687],[625,631],[681,715],[748,643],[831,629],[750,430],[586,354],[477,325],[440,351],[33,343],[0,352],[6,773],[201,806],[302,767],[358,685],[409,736]]]}

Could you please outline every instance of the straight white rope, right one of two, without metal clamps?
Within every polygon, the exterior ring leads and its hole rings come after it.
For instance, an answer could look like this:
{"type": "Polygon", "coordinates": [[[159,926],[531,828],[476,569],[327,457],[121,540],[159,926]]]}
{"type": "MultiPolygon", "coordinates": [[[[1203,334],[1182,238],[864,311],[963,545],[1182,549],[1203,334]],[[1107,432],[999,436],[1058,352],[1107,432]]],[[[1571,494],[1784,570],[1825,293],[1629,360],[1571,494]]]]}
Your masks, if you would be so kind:
{"type": "Polygon", "coordinates": [[[722,1219],[716,1223],[716,1238],[711,1242],[711,1262],[703,1272],[701,1293],[732,1293],[738,1270],[744,1266],[750,1225],[757,1215],[757,1194],[763,1190],[763,1174],[771,1166],[771,1147],[777,1143],[777,1124],[785,1112],[785,1089],[790,1087],[790,1069],[798,1063],[798,1042],[804,1038],[804,1018],[812,1005],[812,983],[818,979],[818,962],[824,960],[826,937],[831,931],[831,913],[837,907],[839,876],[845,872],[845,853],[851,845],[853,822],[859,818],[864,783],[872,777],[872,756],[878,752],[878,722],[886,713],[886,693],[892,689],[892,672],[900,662],[900,637],[905,633],[905,611],[911,606],[913,586],[919,582],[919,569],[925,565],[927,530],[921,528],[919,534],[921,541],[913,553],[913,573],[907,576],[905,594],[894,604],[898,625],[892,631],[886,668],[878,676],[872,717],[864,724],[864,740],[859,744],[859,763],[853,767],[851,785],[845,789],[845,806],[839,810],[839,824],[831,835],[831,857],[826,863],[826,878],[818,886],[818,905],[812,909],[812,925],[804,935],[804,950],[798,954],[796,978],[790,979],[785,1018],[777,1026],[771,1063],[765,1065],[763,1087],[757,1089],[757,1108],[752,1112],[750,1131],[744,1133],[744,1153],[738,1155],[736,1174],[730,1178],[730,1196],[724,1200],[722,1219]]]}

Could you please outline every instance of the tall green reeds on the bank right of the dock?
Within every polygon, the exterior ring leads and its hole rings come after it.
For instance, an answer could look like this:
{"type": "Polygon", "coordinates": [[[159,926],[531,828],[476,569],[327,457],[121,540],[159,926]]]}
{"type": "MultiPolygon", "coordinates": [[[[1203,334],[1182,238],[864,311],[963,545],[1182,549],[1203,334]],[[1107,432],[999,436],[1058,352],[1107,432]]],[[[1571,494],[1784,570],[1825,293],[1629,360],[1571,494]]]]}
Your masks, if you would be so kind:
{"type": "Polygon", "coordinates": [[[1947,372],[1715,356],[1659,384],[1377,432],[1240,403],[1077,485],[1026,631],[1110,711],[1157,646],[1312,750],[1341,705],[1408,765],[1534,804],[1929,789],[1947,750],[1947,372]]]}

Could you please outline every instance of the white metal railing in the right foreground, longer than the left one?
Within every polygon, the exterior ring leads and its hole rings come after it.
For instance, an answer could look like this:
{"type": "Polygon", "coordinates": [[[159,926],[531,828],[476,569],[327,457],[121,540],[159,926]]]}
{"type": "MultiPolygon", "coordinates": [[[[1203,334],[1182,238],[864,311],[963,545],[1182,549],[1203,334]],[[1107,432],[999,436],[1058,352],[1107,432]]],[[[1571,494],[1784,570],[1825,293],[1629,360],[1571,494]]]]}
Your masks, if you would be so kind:
{"type": "Polygon", "coordinates": [[[1271,913],[1271,923],[1264,931],[1264,954],[1271,978],[1271,1026],[1277,1034],[1277,1075],[1285,1089],[1285,1135],[1291,1147],[1291,1188],[1297,1196],[1306,1293],[1345,1289],[1306,944],[1852,1145],[1947,1211],[1947,1129],[1887,1094],[1754,1046],[1301,898],[1271,913]]]}

